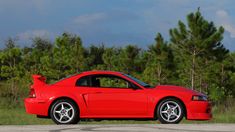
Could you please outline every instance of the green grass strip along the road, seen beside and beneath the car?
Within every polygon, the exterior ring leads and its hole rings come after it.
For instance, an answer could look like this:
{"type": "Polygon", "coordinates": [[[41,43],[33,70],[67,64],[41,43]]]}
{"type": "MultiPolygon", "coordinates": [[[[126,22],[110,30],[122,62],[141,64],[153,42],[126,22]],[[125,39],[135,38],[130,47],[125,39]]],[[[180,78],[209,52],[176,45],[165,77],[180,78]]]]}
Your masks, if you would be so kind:
{"type": "MultiPolygon", "coordinates": [[[[157,124],[158,121],[136,121],[136,120],[102,120],[102,121],[81,121],[81,124],[157,124]]],[[[213,108],[213,119],[210,121],[188,121],[181,123],[235,123],[235,106],[225,108],[219,105],[213,108]]],[[[21,108],[0,108],[1,125],[31,125],[31,124],[54,124],[50,119],[39,119],[35,115],[26,114],[25,109],[21,108]]]]}

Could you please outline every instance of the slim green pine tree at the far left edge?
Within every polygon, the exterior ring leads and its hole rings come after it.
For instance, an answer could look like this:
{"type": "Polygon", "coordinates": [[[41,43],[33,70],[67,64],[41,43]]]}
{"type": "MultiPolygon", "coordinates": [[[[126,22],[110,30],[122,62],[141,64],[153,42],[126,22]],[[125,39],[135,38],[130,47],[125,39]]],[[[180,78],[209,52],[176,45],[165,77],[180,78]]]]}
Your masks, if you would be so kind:
{"type": "Polygon", "coordinates": [[[1,78],[5,78],[10,84],[6,96],[11,99],[11,103],[15,103],[19,95],[18,82],[23,75],[22,69],[20,69],[21,63],[21,50],[16,45],[16,40],[9,38],[5,46],[6,48],[0,52],[0,64],[1,64],[1,78]]]}

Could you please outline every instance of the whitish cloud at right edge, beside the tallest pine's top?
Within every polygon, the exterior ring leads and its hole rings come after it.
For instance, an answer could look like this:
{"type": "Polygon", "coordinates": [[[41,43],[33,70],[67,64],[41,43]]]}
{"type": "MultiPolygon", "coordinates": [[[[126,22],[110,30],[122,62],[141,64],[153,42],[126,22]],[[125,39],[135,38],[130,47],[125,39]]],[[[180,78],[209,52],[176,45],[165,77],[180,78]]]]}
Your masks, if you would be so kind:
{"type": "Polygon", "coordinates": [[[232,24],[228,12],[225,10],[217,10],[216,15],[220,24],[230,33],[230,37],[235,38],[235,26],[232,24]]]}

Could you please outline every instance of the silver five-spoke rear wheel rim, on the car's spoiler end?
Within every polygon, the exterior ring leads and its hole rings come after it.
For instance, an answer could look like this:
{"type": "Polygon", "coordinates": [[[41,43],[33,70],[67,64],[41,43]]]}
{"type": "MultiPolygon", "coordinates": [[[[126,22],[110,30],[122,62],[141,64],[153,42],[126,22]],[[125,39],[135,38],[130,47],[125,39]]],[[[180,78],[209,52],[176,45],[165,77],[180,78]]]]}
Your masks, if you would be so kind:
{"type": "Polygon", "coordinates": [[[67,102],[60,102],[54,107],[53,116],[60,123],[68,123],[74,118],[74,108],[67,102]]]}

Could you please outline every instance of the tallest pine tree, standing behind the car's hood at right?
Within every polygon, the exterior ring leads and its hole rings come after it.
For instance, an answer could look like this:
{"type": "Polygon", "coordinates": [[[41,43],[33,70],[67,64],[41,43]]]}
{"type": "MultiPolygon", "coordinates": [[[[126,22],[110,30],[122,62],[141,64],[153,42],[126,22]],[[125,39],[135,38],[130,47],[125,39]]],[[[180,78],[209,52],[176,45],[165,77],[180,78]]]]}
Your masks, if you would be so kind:
{"type": "Polygon", "coordinates": [[[200,59],[211,59],[213,52],[224,50],[223,33],[223,27],[216,28],[213,22],[205,20],[199,9],[187,16],[187,26],[179,21],[177,28],[170,29],[171,44],[180,63],[185,64],[180,74],[190,77],[186,79],[186,86],[191,82],[191,88],[195,89],[197,71],[203,68],[199,65],[200,59]]]}

